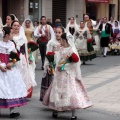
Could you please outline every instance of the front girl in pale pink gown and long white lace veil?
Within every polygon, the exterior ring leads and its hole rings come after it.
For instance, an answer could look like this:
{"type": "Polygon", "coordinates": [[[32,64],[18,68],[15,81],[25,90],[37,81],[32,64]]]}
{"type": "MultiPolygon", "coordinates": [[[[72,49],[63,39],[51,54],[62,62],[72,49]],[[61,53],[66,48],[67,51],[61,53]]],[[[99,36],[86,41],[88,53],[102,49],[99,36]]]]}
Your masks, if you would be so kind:
{"type": "Polygon", "coordinates": [[[55,52],[55,75],[43,99],[43,104],[53,109],[53,117],[58,111],[72,111],[71,120],[76,120],[76,109],[88,108],[92,103],[81,81],[80,59],[74,45],[73,37],[66,33],[61,35],[61,48],[55,52]],[[66,61],[66,56],[76,55],[77,61],[60,64],[66,61]],[[64,69],[62,69],[64,66],[64,69]]]}

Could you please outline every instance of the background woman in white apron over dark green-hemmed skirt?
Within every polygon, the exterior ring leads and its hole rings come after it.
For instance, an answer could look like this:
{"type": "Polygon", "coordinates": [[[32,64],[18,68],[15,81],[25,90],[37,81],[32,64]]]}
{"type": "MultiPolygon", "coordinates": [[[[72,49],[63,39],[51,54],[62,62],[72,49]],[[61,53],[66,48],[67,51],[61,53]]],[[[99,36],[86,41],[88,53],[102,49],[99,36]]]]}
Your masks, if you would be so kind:
{"type": "MultiPolygon", "coordinates": [[[[89,26],[89,25],[88,25],[89,26]]],[[[96,52],[92,46],[92,36],[90,31],[83,21],[80,22],[80,28],[76,32],[75,45],[80,55],[80,59],[85,64],[85,61],[92,60],[96,57],[96,52]]]]}

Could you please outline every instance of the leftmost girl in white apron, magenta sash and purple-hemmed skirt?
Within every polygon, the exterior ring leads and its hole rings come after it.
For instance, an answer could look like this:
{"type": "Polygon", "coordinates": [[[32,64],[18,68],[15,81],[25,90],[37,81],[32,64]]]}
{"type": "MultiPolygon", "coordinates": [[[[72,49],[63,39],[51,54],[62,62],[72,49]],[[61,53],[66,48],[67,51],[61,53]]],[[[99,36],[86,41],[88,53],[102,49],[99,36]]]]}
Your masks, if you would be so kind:
{"type": "Polygon", "coordinates": [[[0,109],[10,108],[10,118],[14,118],[20,115],[14,107],[26,105],[27,90],[19,68],[10,61],[11,52],[17,53],[10,32],[11,28],[4,27],[4,38],[0,41],[0,109]]]}

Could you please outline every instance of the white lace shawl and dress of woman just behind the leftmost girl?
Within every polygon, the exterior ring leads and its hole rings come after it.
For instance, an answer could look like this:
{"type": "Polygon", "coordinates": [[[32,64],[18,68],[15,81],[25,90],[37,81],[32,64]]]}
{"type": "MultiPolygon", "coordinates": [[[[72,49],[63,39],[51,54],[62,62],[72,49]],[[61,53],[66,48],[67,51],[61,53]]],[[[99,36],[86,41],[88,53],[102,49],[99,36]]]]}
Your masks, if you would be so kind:
{"type": "Polygon", "coordinates": [[[26,85],[26,89],[29,90],[31,87],[36,85],[35,74],[28,62],[28,48],[27,48],[27,39],[25,35],[19,34],[18,36],[13,37],[13,41],[16,44],[16,49],[20,52],[20,61],[17,63],[17,66],[22,74],[23,80],[26,85]],[[24,46],[21,50],[21,46],[24,46]]]}

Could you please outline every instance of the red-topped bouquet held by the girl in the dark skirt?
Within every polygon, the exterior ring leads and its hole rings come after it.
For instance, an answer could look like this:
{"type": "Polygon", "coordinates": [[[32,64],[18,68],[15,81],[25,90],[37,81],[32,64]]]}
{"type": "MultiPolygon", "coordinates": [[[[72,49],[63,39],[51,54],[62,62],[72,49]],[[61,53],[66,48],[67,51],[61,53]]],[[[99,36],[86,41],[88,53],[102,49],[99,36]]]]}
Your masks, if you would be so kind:
{"type": "Polygon", "coordinates": [[[51,74],[54,74],[55,69],[55,62],[54,62],[54,52],[48,52],[46,57],[50,63],[51,74]]]}

